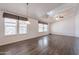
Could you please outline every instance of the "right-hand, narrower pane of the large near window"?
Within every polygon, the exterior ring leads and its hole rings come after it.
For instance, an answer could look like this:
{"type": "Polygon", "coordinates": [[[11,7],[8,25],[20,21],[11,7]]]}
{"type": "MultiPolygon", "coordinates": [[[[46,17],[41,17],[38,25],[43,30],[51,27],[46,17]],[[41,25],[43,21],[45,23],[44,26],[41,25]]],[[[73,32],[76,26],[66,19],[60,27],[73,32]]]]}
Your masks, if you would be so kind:
{"type": "Polygon", "coordinates": [[[19,20],[19,34],[27,33],[27,21],[19,20]]]}

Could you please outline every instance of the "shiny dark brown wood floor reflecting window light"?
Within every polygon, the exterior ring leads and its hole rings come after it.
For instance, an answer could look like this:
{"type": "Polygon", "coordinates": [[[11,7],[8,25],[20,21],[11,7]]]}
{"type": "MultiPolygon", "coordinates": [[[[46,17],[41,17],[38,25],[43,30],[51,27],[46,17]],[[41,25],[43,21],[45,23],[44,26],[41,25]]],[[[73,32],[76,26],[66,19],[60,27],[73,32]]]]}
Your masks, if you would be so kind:
{"type": "Polygon", "coordinates": [[[0,46],[1,55],[76,55],[79,38],[48,35],[0,46]]]}

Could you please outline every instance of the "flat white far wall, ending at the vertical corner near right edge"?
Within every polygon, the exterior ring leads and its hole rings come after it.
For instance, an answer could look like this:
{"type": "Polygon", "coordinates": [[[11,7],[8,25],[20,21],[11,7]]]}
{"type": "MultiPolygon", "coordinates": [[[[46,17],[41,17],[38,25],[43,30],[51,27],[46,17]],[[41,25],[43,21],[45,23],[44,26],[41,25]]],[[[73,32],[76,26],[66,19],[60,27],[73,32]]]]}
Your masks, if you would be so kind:
{"type": "Polygon", "coordinates": [[[74,36],[74,18],[66,18],[63,21],[51,25],[52,34],[74,36]]]}

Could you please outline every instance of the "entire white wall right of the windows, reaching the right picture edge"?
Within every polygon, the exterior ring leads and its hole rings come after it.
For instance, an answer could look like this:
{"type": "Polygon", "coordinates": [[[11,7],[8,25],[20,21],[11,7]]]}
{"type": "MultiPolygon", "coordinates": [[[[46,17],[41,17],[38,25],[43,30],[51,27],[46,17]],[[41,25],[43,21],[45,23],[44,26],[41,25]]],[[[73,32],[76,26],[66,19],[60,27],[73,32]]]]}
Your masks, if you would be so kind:
{"type": "Polygon", "coordinates": [[[73,14],[64,18],[63,21],[52,23],[51,33],[79,37],[79,7],[77,8],[78,10],[72,12],[73,14]]]}

